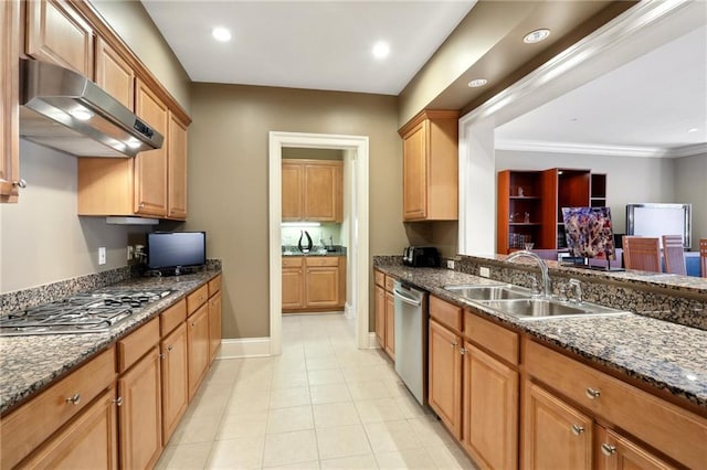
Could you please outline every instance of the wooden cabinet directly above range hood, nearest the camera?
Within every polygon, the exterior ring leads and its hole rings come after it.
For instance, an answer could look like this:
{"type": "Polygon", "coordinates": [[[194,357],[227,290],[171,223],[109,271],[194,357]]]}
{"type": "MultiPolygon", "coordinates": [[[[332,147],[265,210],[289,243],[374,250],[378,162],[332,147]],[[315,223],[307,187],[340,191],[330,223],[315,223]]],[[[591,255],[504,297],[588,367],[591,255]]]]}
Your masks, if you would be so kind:
{"type": "Polygon", "coordinates": [[[93,78],[93,29],[62,0],[27,2],[29,56],[52,62],[93,78]]]}

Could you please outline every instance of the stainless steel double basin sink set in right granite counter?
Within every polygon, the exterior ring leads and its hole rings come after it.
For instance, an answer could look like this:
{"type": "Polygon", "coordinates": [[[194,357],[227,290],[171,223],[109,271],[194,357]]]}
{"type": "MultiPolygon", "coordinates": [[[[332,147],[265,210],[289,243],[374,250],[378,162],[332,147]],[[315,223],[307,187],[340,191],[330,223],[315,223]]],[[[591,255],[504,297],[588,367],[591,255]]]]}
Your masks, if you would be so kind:
{"type": "Polygon", "coordinates": [[[606,317],[625,314],[625,311],[590,302],[564,301],[535,296],[527,289],[503,285],[446,286],[446,290],[466,300],[479,303],[520,320],[541,320],[568,317],[606,317]]]}

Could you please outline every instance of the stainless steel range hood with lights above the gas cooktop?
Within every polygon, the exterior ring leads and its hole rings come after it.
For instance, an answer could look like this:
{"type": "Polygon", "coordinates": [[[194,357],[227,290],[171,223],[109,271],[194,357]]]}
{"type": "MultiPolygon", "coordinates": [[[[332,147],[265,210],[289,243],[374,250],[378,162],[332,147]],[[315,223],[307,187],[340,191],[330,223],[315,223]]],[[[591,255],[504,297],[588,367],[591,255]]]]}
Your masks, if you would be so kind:
{"type": "Polygon", "coordinates": [[[135,157],[165,138],[76,72],[20,60],[20,137],[77,157],[135,157]]]}

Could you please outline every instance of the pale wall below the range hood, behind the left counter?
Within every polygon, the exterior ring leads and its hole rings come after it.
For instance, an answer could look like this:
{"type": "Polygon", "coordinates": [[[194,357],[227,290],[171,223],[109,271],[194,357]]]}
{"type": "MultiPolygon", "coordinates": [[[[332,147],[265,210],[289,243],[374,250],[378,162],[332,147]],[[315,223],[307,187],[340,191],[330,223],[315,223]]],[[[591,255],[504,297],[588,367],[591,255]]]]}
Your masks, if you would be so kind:
{"type": "Polygon", "coordinates": [[[20,163],[28,186],[17,204],[0,204],[0,292],[127,264],[128,233],[146,229],[76,215],[76,157],[21,140],[20,163]]]}

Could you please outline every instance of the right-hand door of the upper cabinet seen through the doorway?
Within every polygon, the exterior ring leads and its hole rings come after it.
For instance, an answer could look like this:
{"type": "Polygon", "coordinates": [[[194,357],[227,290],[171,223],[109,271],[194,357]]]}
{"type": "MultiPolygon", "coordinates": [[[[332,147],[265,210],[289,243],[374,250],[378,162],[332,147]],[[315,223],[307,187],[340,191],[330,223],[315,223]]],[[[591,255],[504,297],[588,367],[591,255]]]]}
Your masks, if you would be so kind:
{"type": "Polygon", "coordinates": [[[307,221],[341,222],[341,164],[305,164],[304,213],[307,221]]]}

